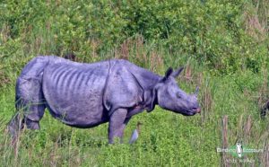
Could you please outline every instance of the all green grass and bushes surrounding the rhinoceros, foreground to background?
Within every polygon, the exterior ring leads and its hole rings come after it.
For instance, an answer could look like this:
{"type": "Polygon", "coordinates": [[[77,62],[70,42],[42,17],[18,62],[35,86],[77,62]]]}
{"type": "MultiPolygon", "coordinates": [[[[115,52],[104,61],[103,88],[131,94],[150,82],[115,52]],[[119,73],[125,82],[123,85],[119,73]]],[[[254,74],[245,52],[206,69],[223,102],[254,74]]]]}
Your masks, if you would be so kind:
{"type": "MultiPolygon", "coordinates": [[[[3,166],[218,166],[221,119],[229,117],[229,145],[242,140],[268,147],[268,118],[259,108],[268,92],[268,23],[262,1],[29,1],[0,3],[0,163],[3,166]],[[180,87],[200,86],[201,115],[183,117],[157,108],[126,128],[125,144],[108,145],[104,124],[67,127],[48,112],[39,131],[26,130],[18,149],[4,131],[15,112],[14,84],[37,55],[92,62],[120,57],[164,74],[186,65],[180,87]],[[251,128],[246,133],[247,119],[251,128]],[[142,134],[128,137],[137,121],[142,134]]],[[[266,166],[266,154],[252,154],[266,166]]],[[[242,164],[239,164],[242,165],[242,164]]]]}

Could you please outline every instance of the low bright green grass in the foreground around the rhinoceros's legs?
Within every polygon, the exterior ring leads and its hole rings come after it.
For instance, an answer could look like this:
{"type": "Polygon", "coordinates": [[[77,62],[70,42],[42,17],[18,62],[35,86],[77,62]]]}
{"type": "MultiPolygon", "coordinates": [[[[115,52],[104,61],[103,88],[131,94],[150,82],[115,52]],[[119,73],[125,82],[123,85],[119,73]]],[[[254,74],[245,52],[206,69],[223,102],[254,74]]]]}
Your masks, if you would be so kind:
{"type": "MultiPolygon", "coordinates": [[[[264,69],[266,72],[268,69],[264,69]]],[[[126,127],[125,144],[108,145],[108,124],[90,129],[67,127],[46,112],[39,131],[25,130],[13,148],[5,129],[14,113],[15,73],[0,89],[0,155],[3,166],[219,166],[222,147],[222,118],[228,116],[228,145],[237,141],[250,148],[267,149],[247,154],[254,163],[268,165],[269,120],[259,117],[259,97],[267,90],[268,76],[244,71],[229,76],[207,73],[195,61],[188,61],[178,79],[187,92],[201,87],[202,113],[184,117],[157,108],[134,116],[126,127]],[[137,121],[143,122],[137,143],[127,141],[137,121]]],[[[227,159],[235,159],[227,154],[227,159]]],[[[233,164],[234,165],[234,164],[233,164]]]]}

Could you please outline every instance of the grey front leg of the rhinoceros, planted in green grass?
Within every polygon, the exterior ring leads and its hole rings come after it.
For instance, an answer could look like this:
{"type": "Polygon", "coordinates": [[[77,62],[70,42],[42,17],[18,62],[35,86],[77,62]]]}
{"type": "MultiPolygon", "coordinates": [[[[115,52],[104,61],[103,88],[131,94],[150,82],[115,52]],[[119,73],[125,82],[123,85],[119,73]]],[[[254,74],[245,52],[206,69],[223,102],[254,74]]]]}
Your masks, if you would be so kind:
{"type": "Polygon", "coordinates": [[[118,109],[113,112],[109,119],[108,126],[108,143],[113,144],[114,138],[119,137],[120,142],[123,142],[124,130],[128,121],[131,118],[126,119],[127,110],[126,109],[118,109]]]}

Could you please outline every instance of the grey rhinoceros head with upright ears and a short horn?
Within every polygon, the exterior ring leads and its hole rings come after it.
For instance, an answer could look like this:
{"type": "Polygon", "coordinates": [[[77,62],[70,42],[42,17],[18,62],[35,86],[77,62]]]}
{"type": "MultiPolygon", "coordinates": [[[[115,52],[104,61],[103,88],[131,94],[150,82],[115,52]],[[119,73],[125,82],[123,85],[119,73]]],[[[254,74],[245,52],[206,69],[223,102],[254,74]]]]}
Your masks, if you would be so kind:
{"type": "Polygon", "coordinates": [[[162,109],[171,110],[185,116],[193,116],[201,111],[197,101],[198,87],[194,94],[182,91],[176,82],[176,77],[181,73],[183,67],[173,71],[169,67],[165,76],[155,85],[155,101],[162,109]]]}

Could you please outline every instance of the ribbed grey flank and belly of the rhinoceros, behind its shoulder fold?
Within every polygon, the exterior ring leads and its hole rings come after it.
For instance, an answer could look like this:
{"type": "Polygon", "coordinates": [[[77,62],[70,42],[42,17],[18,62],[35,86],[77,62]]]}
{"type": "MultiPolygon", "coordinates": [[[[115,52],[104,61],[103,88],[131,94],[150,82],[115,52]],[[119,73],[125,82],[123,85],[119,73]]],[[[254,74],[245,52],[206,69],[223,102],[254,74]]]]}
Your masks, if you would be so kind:
{"type": "Polygon", "coordinates": [[[73,127],[94,127],[108,120],[102,95],[108,65],[49,65],[44,71],[42,89],[48,110],[73,127]]]}

